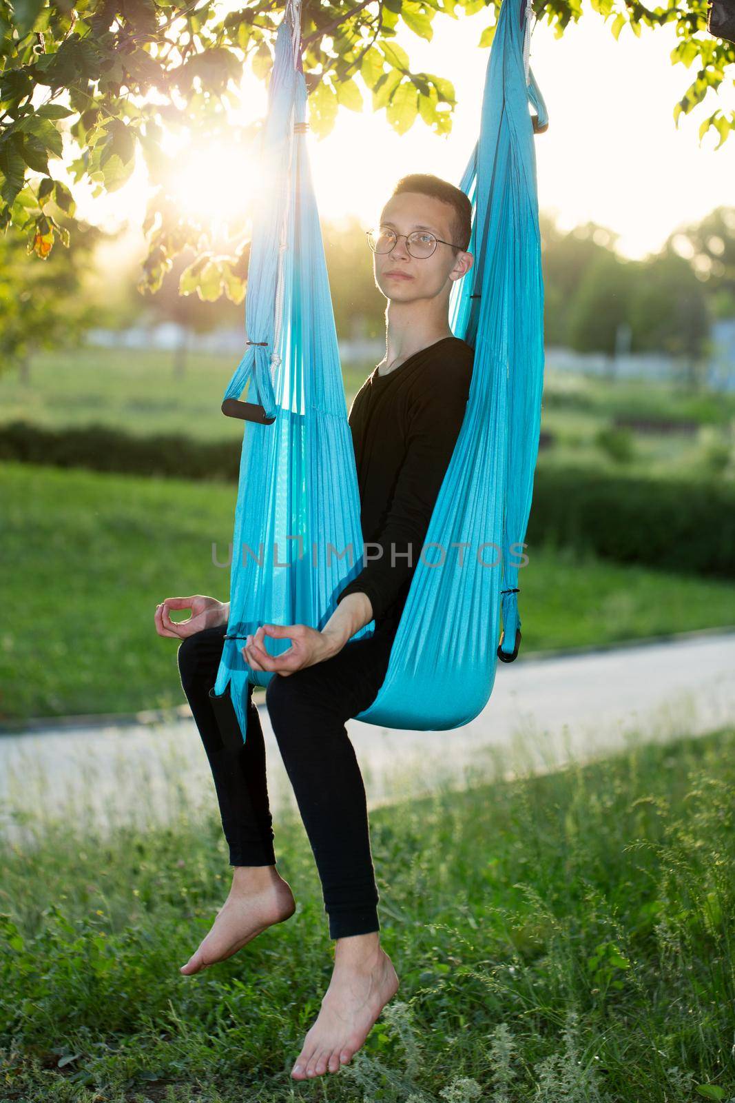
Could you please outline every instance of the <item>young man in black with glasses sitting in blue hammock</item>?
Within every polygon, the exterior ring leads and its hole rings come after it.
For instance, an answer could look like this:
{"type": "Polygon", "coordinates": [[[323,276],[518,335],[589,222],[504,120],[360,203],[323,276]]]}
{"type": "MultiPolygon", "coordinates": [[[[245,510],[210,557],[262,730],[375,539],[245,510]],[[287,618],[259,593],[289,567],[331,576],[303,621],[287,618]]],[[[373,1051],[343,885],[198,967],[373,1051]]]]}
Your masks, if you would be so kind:
{"type": "MultiPolygon", "coordinates": [[[[322,1009],[291,1071],[296,1080],[336,1072],[349,1061],[398,990],[379,943],[365,788],[345,721],[375,700],[385,679],[465,414],[473,350],[452,334],[448,303],[452,285],[474,260],[466,251],[471,210],[453,184],[413,174],[399,181],[379,227],[368,235],[376,285],[388,300],[386,356],[355,397],[349,425],[363,537],[378,554],[342,589],[322,631],[262,624],[242,649],[253,670],[279,675],[266,694],[269,717],[314,852],[329,936],[336,939],[322,1009]],[[371,638],[352,640],[374,619],[371,638]],[[266,635],[288,638],[291,646],[273,658],[266,635]]],[[[247,739],[231,751],[208,699],[228,613],[228,602],[201,595],[169,598],[155,612],[159,634],[183,640],[182,686],[212,765],[235,867],[212,931],[182,966],[187,975],[229,957],[295,910],[291,888],[275,869],[258,710],[250,698],[247,739]],[[175,623],[172,609],[191,609],[192,615],[175,623]]]]}

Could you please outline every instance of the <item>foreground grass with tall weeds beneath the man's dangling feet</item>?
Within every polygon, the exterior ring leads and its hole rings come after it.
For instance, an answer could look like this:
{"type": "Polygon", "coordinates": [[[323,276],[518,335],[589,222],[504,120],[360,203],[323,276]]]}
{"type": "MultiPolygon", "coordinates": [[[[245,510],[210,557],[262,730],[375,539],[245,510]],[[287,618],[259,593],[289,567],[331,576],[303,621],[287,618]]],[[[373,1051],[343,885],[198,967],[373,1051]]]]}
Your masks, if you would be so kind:
{"type": "Polygon", "coordinates": [[[334,945],[303,828],[275,816],[293,919],[185,978],[229,878],[218,816],[171,786],[166,826],[72,808],[0,855],[3,1103],[735,1096],[734,729],[374,810],[401,987],[303,1084],[334,945]]]}

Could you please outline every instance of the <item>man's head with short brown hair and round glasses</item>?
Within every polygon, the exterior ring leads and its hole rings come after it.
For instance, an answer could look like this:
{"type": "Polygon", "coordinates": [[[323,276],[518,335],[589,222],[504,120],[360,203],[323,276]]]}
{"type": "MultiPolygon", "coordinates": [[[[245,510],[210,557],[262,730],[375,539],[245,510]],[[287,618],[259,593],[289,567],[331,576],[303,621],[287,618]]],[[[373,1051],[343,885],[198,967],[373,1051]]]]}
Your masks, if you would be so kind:
{"type": "Polygon", "coordinates": [[[380,213],[379,226],[399,235],[390,251],[375,254],[375,279],[386,298],[411,302],[444,295],[448,301],[452,283],[469,271],[474,261],[466,251],[472,204],[465,193],[429,173],[402,176],[380,213]],[[431,256],[411,255],[403,235],[413,231],[429,231],[437,238],[431,256]]]}

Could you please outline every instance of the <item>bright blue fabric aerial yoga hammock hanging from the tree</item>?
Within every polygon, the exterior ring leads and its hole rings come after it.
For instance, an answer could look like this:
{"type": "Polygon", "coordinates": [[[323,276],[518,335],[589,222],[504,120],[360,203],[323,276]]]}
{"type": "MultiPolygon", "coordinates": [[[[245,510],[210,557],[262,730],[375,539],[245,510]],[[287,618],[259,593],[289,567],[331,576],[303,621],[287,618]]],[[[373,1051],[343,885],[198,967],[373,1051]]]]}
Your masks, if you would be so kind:
{"type": "MultiPolygon", "coordinates": [[[[479,140],[460,188],[473,205],[475,264],[455,281],[450,323],[474,347],[464,421],[374,703],[357,718],[442,730],[487,704],[498,654],[520,640],[518,567],[531,504],[543,383],[543,282],[528,67],[530,0],[504,0],[479,140]],[[526,7],[523,7],[526,4],[526,7]],[[464,545],[464,547],[462,547],[464,545]],[[493,566],[495,564],[495,566],[493,566]],[[499,617],[504,634],[498,647],[499,617]],[[497,651],[496,651],[497,649],[497,651]]],[[[361,570],[355,454],[306,139],[299,4],[279,26],[253,219],[247,349],[223,399],[245,430],[230,611],[213,702],[229,692],[242,739],[252,671],[241,647],[263,623],[322,629],[361,570]],[[248,403],[239,396],[249,381],[248,403]],[[353,558],[349,558],[349,549],[353,558]]],[[[370,621],[353,636],[371,635],[370,621]]],[[[266,638],[271,654],[290,641],[266,638]]]]}

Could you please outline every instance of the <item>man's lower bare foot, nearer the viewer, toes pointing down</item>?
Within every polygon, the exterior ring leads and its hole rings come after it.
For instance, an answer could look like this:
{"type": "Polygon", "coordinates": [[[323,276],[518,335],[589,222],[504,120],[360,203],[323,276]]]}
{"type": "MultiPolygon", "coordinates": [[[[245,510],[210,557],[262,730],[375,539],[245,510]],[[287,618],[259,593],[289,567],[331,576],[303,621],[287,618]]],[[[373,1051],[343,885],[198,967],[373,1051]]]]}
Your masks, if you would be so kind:
{"type": "Polygon", "coordinates": [[[291,1070],[293,1079],[321,1077],[347,1064],[398,987],[396,970],[377,931],[337,939],[329,987],[291,1070]]]}

